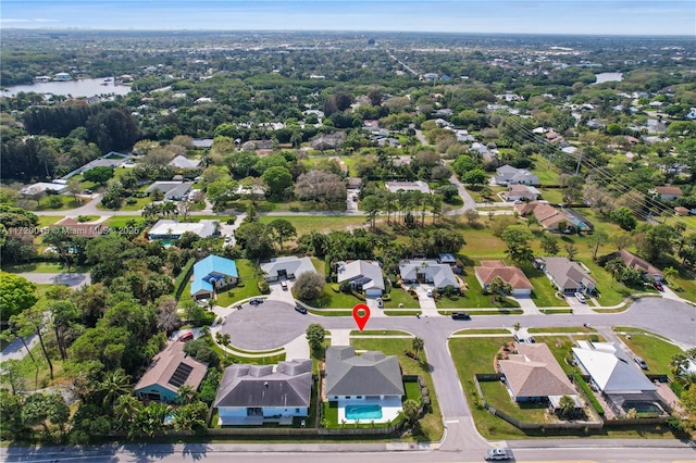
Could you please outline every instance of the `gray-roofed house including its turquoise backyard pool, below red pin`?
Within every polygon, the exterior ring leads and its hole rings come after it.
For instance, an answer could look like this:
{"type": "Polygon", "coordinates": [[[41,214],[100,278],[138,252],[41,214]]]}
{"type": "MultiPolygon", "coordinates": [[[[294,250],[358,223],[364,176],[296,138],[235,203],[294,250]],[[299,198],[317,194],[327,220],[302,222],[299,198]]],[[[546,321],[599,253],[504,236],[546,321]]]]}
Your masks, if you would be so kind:
{"type": "Polygon", "coordinates": [[[401,366],[396,355],[368,351],[356,355],[350,346],[326,348],[323,396],[337,402],[338,421],[364,422],[357,411],[365,405],[374,413],[370,421],[388,423],[401,411],[405,395],[401,366]]]}

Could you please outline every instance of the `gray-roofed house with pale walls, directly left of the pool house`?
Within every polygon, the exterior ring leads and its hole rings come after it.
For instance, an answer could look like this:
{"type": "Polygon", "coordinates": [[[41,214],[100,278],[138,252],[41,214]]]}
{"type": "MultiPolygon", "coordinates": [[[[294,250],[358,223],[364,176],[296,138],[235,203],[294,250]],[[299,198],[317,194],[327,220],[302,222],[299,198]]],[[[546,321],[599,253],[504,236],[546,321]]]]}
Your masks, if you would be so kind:
{"type": "Polygon", "coordinates": [[[291,424],[309,415],[311,395],[311,360],[234,364],[225,368],[213,406],[220,425],[291,424]]]}

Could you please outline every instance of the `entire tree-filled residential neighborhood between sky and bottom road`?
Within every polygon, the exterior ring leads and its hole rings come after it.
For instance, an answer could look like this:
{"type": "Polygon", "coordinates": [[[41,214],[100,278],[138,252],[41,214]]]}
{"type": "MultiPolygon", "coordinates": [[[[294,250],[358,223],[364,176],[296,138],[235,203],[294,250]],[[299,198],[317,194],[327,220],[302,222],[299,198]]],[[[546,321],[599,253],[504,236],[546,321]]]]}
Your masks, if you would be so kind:
{"type": "Polygon", "coordinates": [[[47,37],[3,33],[3,441],[695,436],[684,41],[47,37]]]}

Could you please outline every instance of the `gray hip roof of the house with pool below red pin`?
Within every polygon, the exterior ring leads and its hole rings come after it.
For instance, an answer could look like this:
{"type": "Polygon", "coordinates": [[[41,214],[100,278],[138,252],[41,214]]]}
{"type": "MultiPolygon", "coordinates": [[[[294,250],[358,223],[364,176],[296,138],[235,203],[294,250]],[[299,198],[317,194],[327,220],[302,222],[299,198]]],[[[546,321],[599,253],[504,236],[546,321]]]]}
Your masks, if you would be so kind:
{"type": "Polygon", "coordinates": [[[330,401],[358,396],[400,398],[403,380],[399,360],[377,351],[356,355],[350,346],[330,346],[324,391],[330,401]]]}

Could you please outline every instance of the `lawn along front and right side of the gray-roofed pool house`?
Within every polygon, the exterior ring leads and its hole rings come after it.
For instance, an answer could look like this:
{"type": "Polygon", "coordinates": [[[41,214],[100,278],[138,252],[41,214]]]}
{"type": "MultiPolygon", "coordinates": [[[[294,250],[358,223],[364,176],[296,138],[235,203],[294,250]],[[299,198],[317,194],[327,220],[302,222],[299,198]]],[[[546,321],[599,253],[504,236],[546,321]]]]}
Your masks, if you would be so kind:
{"type": "Polygon", "coordinates": [[[439,411],[439,404],[434,393],[433,378],[428,371],[430,365],[425,353],[421,352],[419,355],[421,361],[415,361],[403,354],[405,350],[411,350],[410,339],[365,339],[353,338],[350,340],[350,345],[356,350],[378,350],[387,355],[397,355],[399,358],[399,364],[405,375],[421,375],[427,384],[427,389],[431,391],[431,412],[422,417],[419,422],[419,426],[413,428],[413,439],[418,441],[434,442],[443,437],[445,431],[443,427],[443,418],[439,411]]]}

